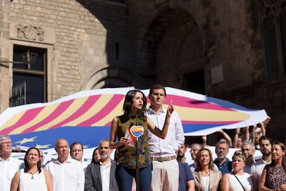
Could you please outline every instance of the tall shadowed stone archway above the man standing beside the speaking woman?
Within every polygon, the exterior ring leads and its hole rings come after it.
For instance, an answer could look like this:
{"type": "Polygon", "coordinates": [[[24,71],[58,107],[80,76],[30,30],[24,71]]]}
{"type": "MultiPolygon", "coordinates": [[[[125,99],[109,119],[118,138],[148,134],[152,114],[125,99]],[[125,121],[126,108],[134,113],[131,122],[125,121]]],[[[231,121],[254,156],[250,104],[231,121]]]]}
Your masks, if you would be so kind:
{"type": "Polygon", "coordinates": [[[149,24],[140,50],[137,71],[153,83],[186,89],[185,74],[204,74],[204,38],[196,20],[182,8],[161,10],[149,24]]]}

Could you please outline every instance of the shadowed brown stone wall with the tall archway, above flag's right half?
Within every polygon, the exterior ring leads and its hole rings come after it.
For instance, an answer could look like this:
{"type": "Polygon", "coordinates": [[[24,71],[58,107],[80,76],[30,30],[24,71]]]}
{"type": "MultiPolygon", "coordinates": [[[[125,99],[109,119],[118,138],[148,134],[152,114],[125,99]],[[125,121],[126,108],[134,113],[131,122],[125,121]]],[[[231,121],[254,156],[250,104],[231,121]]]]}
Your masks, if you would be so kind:
{"type": "Polygon", "coordinates": [[[267,80],[254,1],[126,2],[135,30],[137,69],[145,78],[182,88],[182,74],[202,68],[208,96],[265,109],[271,116],[267,135],[285,138],[285,77],[267,80]],[[192,35],[184,36],[186,30],[192,35]],[[196,30],[199,35],[194,35],[196,30]],[[192,55],[194,50],[200,57],[192,55]],[[278,131],[283,133],[278,135],[278,131]]]}

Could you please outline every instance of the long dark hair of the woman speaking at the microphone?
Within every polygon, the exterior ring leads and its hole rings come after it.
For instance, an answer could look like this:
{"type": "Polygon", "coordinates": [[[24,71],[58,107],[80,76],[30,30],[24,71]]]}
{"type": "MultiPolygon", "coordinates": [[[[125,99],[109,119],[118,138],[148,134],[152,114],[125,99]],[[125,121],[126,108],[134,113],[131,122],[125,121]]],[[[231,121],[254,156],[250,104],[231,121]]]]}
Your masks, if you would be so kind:
{"type": "Polygon", "coordinates": [[[146,96],[144,95],[144,93],[142,91],[140,91],[139,89],[132,89],[130,91],[128,91],[126,93],[125,99],[124,99],[124,104],[123,104],[123,111],[124,111],[124,115],[129,116],[132,113],[132,104],[133,104],[133,98],[135,97],[135,94],[139,92],[142,93],[143,96],[143,105],[142,105],[142,109],[140,109],[137,113],[138,118],[140,118],[140,120],[144,120],[144,112],[146,111],[146,104],[147,104],[147,99],[146,96]]]}

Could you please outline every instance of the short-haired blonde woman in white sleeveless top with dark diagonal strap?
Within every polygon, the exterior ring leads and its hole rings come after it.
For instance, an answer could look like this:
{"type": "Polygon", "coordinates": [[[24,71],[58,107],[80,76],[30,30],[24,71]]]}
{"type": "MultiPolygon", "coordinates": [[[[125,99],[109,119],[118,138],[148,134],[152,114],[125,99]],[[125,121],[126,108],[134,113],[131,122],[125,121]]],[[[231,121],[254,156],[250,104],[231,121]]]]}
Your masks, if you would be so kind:
{"type": "Polygon", "coordinates": [[[220,188],[222,191],[256,191],[258,190],[254,176],[243,172],[245,156],[239,152],[232,156],[232,172],[222,176],[220,188]]]}

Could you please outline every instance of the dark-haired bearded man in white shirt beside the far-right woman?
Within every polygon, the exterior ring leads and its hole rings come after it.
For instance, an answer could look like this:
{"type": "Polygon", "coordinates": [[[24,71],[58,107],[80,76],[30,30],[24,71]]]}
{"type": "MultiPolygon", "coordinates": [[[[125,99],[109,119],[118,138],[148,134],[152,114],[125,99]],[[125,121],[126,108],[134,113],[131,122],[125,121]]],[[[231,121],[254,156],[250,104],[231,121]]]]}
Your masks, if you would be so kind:
{"type": "Polygon", "coordinates": [[[261,174],[263,172],[265,165],[271,163],[271,147],[272,147],[271,139],[266,136],[260,137],[259,146],[260,146],[260,152],[261,154],[263,154],[263,156],[253,165],[251,165],[251,171],[250,171],[250,173],[254,175],[254,178],[256,179],[258,185],[260,183],[261,174]]]}

